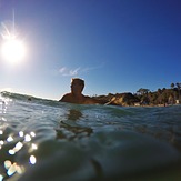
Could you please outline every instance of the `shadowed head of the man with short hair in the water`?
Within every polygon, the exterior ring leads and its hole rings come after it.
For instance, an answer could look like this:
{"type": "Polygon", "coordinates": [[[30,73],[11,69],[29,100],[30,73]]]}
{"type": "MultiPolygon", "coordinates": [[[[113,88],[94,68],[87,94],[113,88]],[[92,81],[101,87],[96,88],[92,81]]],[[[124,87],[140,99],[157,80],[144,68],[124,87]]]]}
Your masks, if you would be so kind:
{"type": "Polygon", "coordinates": [[[81,93],[84,88],[84,80],[79,78],[72,78],[71,79],[71,92],[72,93],[81,93]]]}

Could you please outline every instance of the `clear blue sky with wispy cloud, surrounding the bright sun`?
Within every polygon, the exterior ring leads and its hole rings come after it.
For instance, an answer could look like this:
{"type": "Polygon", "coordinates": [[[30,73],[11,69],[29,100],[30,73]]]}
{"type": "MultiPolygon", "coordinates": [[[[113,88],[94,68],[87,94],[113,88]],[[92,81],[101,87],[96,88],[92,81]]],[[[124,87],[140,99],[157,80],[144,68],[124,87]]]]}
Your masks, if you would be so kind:
{"type": "Polygon", "coordinates": [[[14,10],[28,49],[21,64],[0,58],[0,90],[59,100],[73,77],[88,95],[170,88],[181,82],[180,9],[179,0],[0,0],[1,24],[14,10]]]}

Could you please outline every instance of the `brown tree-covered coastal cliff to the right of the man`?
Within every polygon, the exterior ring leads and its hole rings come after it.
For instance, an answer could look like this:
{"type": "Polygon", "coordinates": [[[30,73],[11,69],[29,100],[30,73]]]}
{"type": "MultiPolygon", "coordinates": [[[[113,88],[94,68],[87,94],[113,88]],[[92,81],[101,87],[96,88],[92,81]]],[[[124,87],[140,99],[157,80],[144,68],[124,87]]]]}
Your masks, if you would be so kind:
{"type": "Polygon", "coordinates": [[[134,94],[130,92],[109,93],[108,95],[95,95],[93,98],[102,103],[109,102],[109,104],[114,105],[175,104],[181,102],[181,83],[171,83],[170,88],[159,88],[154,92],[140,88],[134,94]]]}

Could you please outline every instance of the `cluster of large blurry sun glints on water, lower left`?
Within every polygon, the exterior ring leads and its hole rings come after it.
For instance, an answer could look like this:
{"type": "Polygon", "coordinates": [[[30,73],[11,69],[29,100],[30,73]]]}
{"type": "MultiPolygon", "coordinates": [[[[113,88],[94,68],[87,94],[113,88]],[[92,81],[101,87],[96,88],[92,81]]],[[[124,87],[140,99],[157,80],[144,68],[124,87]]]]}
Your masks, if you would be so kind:
{"type": "MultiPolygon", "coordinates": [[[[18,135],[11,134],[7,135],[6,130],[0,130],[0,135],[3,138],[0,140],[0,150],[3,152],[3,154],[8,153],[9,160],[4,160],[1,158],[0,161],[3,161],[3,167],[6,172],[0,174],[0,181],[7,178],[11,178],[12,175],[16,174],[22,174],[26,170],[23,164],[19,164],[18,161],[12,161],[14,160],[14,154],[17,154],[24,145],[28,147],[29,149],[27,150],[27,154],[30,154],[31,152],[34,152],[38,150],[38,145],[32,142],[33,138],[36,138],[36,133],[31,131],[30,133],[26,133],[23,131],[19,131],[18,135]],[[20,141],[17,141],[20,140],[20,141]],[[29,144],[31,142],[31,144],[29,144]],[[9,143],[13,143],[14,147],[9,148],[9,143]],[[4,148],[4,149],[3,149],[4,148]],[[7,151],[6,151],[7,150],[7,151]]],[[[29,160],[27,160],[29,164],[33,165],[37,163],[37,158],[34,154],[29,155],[29,160]]],[[[0,169],[1,170],[1,169],[0,169]]]]}

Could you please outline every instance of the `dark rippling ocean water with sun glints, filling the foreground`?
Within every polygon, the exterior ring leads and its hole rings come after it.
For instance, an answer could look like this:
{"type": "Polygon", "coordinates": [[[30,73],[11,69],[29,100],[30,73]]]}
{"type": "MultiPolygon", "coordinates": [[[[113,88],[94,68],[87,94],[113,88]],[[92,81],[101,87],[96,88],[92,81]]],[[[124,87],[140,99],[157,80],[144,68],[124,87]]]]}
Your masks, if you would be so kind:
{"type": "Polygon", "coordinates": [[[2,92],[0,181],[181,180],[181,105],[80,105],[2,92]]]}

